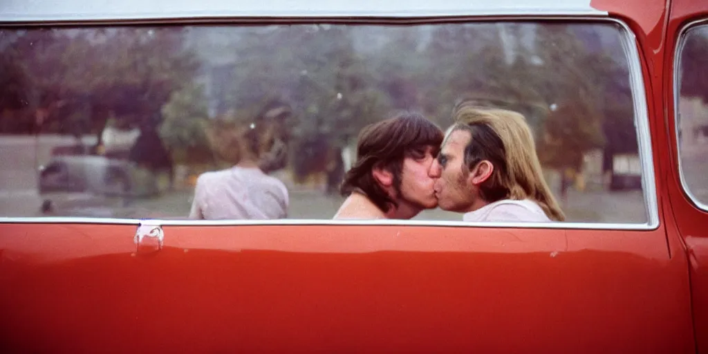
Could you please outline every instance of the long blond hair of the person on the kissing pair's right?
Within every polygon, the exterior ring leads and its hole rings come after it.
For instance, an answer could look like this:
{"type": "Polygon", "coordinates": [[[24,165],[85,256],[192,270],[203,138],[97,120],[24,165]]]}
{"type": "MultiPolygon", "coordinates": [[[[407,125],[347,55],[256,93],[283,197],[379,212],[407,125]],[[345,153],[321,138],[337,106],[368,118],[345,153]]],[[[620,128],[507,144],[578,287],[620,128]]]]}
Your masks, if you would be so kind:
{"type": "MultiPolygon", "coordinates": [[[[565,220],[565,215],[543,178],[536,144],[523,115],[511,110],[462,104],[455,108],[453,117],[456,125],[452,130],[465,129],[471,132],[476,128],[491,130],[498,139],[501,139],[501,152],[487,152],[498,156],[502,164],[506,165],[495,166],[489,181],[492,185],[496,185],[496,193],[500,194],[501,190],[501,194],[506,194],[498,197],[513,200],[532,199],[550,219],[565,220]]],[[[478,143],[470,141],[465,149],[465,162],[470,169],[474,168],[469,166],[474,163],[472,159],[480,156],[468,155],[479,154],[480,149],[493,149],[484,146],[472,147],[473,144],[478,143]]],[[[484,151],[481,153],[487,155],[484,151]]]]}

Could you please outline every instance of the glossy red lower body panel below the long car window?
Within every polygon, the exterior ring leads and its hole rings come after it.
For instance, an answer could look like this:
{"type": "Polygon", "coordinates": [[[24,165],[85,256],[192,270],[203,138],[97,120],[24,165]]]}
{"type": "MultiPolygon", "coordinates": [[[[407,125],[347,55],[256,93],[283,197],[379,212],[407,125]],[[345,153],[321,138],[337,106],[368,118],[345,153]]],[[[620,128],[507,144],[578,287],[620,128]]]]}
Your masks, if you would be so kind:
{"type": "Polygon", "coordinates": [[[136,253],[131,226],[0,230],[16,235],[0,244],[8,348],[685,353],[693,345],[685,258],[668,257],[661,229],[165,227],[164,249],[147,254],[136,253]]]}

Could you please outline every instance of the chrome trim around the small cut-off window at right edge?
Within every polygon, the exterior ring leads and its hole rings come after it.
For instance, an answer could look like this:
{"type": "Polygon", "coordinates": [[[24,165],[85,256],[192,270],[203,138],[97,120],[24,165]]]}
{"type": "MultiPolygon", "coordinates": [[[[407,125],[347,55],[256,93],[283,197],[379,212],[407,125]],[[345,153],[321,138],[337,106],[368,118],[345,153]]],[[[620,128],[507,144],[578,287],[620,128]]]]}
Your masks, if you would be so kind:
{"type": "MultiPolygon", "coordinates": [[[[679,112],[679,98],[681,96],[681,89],[679,86],[680,83],[680,64],[681,64],[681,56],[683,55],[683,47],[686,44],[685,41],[685,34],[691,30],[692,28],[697,28],[701,25],[708,25],[708,19],[700,19],[696,21],[692,21],[687,23],[686,25],[681,28],[680,31],[678,31],[678,44],[676,45],[676,48],[673,52],[673,127],[674,127],[674,137],[676,139],[676,157],[678,158],[678,177],[679,180],[681,181],[681,188],[683,188],[683,193],[687,195],[688,199],[693,203],[695,207],[697,207],[700,210],[703,210],[704,212],[708,212],[708,204],[705,204],[702,202],[699,198],[696,197],[695,194],[691,191],[691,188],[689,188],[686,178],[683,174],[683,163],[681,162],[683,159],[681,157],[681,144],[678,141],[678,130],[680,129],[678,120],[680,116],[679,112]]],[[[708,85],[708,84],[707,84],[708,85]]]]}

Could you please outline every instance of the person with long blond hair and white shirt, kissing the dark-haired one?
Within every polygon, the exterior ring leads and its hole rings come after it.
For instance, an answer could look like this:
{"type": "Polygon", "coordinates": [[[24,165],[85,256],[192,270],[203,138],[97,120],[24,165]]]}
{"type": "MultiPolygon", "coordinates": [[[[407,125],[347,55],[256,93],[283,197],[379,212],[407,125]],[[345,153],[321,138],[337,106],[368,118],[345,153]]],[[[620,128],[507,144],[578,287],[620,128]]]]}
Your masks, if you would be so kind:
{"type": "Polygon", "coordinates": [[[430,174],[444,210],[467,221],[564,221],[530,127],[511,110],[457,105],[430,174]]]}

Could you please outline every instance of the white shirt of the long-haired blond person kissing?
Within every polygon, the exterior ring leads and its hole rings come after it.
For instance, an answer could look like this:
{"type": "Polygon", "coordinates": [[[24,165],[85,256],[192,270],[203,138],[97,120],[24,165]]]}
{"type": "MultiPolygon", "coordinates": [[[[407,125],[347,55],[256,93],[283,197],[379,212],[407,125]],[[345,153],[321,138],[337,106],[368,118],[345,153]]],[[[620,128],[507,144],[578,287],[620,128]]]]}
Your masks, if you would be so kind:
{"type": "Polygon", "coordinates": [[[533,200],[503,199],[462,216],[466,222],[549,222],[551,219],[533,200]]]}

